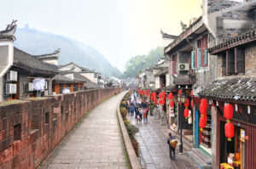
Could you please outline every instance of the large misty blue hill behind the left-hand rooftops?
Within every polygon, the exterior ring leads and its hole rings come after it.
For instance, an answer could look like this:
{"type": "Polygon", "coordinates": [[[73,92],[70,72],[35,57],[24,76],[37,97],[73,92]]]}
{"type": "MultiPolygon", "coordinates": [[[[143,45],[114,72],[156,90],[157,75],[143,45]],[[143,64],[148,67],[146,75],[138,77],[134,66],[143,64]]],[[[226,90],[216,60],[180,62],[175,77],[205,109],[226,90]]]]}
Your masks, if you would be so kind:
{"type": "Polygon", "coordinates": [[[57,48],[61,48],[59,65],[74,62],[90,70],[99,71],[103,76],[119,76],[121,74],[95,48],[91,48],[82,42],[30,29],[28,26],[17,29],[15,37],[15,47],[29,54],[49,54],[57,48]]]}

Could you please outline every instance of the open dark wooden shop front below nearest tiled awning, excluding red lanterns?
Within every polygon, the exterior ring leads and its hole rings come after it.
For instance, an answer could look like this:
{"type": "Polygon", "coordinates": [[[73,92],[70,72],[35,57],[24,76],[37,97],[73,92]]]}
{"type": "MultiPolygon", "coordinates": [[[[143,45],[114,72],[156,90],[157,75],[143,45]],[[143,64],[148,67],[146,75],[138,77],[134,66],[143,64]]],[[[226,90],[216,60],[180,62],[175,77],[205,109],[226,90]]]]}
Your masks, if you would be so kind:
{"type": "Polygon", "coordinates": [[[235,169],[253,169],[256,166],[256,107],[246,104],[230,103],[234,107],[233,118],[230,123],[234,125],[234,136],[226,137],[224,118],[224,102],[220,102],[218,109],[218,164],[221,167],[233,166],[235,169]],[[236,107],[236,109],[235,109],[236,107]],[[253,110],[249,114],[247,113],[253,110]]]}

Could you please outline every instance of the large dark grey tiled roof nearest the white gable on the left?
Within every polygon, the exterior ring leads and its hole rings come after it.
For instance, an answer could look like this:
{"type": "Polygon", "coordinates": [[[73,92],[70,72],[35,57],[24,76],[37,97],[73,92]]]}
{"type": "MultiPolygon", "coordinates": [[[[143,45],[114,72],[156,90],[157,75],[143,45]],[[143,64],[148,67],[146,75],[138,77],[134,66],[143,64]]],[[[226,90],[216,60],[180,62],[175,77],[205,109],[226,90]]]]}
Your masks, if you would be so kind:
{"type": "Polygon", "coordinates": [[[58,73],[55,67],[39,61],[31,54],[27,54],[18,48],[14,48],[14,65],[34,74],[56,75],[58,73]]]}

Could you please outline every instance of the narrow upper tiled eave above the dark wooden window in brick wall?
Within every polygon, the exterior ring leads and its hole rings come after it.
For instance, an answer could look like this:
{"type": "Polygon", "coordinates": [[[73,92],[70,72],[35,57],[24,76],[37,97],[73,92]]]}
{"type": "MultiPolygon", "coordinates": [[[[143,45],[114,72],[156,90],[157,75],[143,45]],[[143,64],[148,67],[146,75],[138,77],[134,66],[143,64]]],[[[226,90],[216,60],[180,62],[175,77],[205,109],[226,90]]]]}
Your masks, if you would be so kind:
{"type": "Polygon", "coordinates": [[[212,51],[215,51],[215,50],[221,50],[221,49],[224,49],[224,48],[233,48],[235,46],[241,45],[242,43],[250,42],[250,40],[252,40],[252,39],[255,40],[255,38],[256,38],[256,30],[249,31],[249,32],[244,33],[240,36],[231,38],[226,42],[222,42],[222,43],[220,43],[220,44],[218,44],[218,45],[216,45],[212,48],[208,48],[208,51],[210,53],[212,53],[212,51]]]}

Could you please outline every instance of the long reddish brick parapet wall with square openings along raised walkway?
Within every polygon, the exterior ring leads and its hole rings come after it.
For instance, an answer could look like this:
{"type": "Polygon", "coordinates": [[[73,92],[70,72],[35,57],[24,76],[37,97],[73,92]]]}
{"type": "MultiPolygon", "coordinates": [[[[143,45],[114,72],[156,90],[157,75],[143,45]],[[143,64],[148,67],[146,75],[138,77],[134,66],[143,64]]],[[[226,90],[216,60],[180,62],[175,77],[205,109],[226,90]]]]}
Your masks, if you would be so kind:
{"type": "Polygon", "coordinates": [[[0,169],[36,168],[88,110],[121,90],[86,90],[0,106],[0,169]]]}

